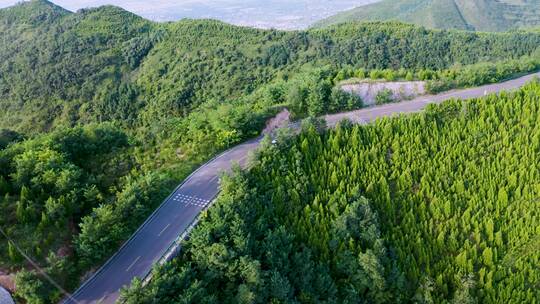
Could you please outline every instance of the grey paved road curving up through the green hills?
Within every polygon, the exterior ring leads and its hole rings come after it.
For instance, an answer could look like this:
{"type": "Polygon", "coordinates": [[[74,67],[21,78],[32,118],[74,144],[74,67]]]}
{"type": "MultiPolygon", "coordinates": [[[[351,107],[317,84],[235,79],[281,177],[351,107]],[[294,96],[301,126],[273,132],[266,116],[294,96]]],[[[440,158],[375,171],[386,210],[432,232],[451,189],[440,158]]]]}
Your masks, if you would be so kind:
{"type": "MultiPolygon", "coordinates": [[[[523,86],[540,73],[528,75],[500,84],[455,90],[434,96],[423,96],[402,103],[387,104],[325,117],[329,126],[348,118],[353,122],[367,123],[378,117],[422,110],[429,103],[439,103],[450,98],[474,98],[485,93],[523,86]]],[[[134,236],[65,303],[114,303],[120,289],[133,278],[144,278],[165,251],[197,218],[218,193],[218,179],[222,171],[229,171],[232,162],[244,166],[249,151],[259,145],[261,138],[238,145],[200,167],[188,177],[139,228],[134,236]]]]}

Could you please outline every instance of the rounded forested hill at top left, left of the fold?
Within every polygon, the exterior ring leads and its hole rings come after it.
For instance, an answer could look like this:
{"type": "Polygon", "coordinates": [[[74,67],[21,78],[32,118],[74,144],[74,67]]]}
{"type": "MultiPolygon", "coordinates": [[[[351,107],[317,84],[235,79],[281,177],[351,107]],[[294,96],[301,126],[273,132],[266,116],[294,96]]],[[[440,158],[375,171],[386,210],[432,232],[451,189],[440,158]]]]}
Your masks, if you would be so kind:
{"type": "Polygon", "coordinates": [[[46,130],[89,103],[106,107],[132,62],[146,55],[134,45],[151,29],[113,6],[73,14],[39,0],[0,10],[2,126],[46,130]]]}

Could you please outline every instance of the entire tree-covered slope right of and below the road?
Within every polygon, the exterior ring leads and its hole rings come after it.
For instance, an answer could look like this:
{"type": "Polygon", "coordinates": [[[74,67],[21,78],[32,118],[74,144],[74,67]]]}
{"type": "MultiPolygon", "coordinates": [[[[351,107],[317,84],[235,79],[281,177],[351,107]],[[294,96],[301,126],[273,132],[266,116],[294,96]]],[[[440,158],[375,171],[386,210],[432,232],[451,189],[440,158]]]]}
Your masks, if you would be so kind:
{"type": "Polygon", "coordinates": [[[540,83],[266,144],[126,303],[537,303],[540,83]]]}

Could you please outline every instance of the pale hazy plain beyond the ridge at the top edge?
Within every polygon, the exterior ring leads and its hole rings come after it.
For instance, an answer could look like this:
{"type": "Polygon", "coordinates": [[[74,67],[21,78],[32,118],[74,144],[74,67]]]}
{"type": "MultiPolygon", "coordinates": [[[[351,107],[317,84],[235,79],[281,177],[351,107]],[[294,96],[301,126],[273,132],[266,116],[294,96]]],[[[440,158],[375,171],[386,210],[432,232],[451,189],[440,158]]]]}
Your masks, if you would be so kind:
{"type": "MultiPolygon", "coordinates": [[[[378,0],[53,0],[69,10],[121,6],[156,21],[212,18],[260,28],[302,29],[339,11],[378,0]]],[[[0,7],[16,0],[0,0],[0,7]]]]}

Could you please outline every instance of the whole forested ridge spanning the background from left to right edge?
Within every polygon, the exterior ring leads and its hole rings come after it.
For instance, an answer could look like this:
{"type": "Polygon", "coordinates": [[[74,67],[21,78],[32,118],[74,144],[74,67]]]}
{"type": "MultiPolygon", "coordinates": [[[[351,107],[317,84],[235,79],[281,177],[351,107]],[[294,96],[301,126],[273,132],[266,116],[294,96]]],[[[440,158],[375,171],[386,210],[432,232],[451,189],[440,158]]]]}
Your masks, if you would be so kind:
{"type": "Polygon", "coordinates": [[[0,128],[120,120],[155,124],[230,101],[310,66],[444,69],[530,54],[536,33],[402,24],[279,32],[217,21],[156,24],[116,7],[70,13],[44,0],[0,10],[0,128]]]}

